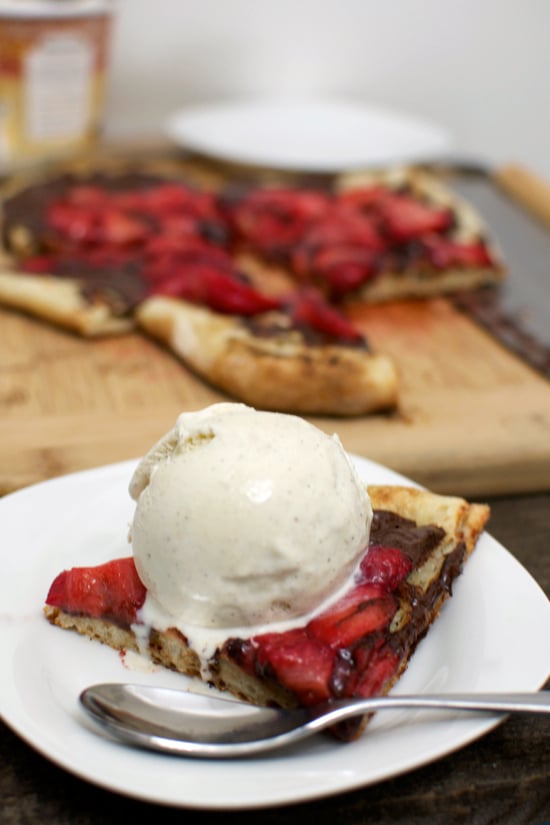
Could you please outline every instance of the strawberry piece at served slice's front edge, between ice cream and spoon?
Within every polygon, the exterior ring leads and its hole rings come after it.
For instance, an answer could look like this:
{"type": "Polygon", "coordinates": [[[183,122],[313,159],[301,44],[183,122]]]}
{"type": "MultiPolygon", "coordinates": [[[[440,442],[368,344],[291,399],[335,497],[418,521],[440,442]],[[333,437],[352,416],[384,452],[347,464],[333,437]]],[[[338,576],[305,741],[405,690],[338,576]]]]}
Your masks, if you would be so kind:
{"type": "Polygon", "coordinates": [[[334,656],[317,639],[310,639],[305,629],[259,636],[256,668],[273,674],[296,694],[304,705],[314,705],[330,697],[330,677],[334,656]]]}

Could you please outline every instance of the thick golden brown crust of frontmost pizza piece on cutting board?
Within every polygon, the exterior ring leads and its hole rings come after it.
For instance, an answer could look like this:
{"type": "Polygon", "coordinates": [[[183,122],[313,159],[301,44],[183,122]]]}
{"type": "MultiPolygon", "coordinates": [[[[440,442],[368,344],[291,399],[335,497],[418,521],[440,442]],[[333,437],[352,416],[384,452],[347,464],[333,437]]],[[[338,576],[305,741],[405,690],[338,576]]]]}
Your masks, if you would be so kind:
{"type": "Polygon", "coordinates": [[[148,299],[136,319],[203,378],[259,409],[351,416],[397,401],[396,369],[386,355],[309,346],[297,331],[257,336],[237,317],[173,298],[148,299]]]}

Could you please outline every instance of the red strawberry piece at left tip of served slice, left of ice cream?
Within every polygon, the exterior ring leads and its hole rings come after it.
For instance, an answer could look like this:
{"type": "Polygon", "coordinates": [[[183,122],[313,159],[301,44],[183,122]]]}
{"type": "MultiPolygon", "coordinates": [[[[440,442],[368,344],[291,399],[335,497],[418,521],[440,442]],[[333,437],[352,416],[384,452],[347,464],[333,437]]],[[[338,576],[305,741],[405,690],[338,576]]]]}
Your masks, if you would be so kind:
{"type": "Polygon", "coordinates": [[[96,567],[73,567],[53,581],[46,604],[67,613],[105,618],[128,627],[145,601],[146,589],[130,556],[96,567]]]}

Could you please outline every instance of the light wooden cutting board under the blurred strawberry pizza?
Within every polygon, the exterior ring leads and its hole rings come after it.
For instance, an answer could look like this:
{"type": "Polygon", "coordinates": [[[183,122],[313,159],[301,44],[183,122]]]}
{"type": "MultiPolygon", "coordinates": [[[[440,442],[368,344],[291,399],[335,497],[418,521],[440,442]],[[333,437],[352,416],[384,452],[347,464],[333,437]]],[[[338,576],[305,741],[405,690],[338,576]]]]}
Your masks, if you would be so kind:
{"type": "MultiPolygon", "coordinates": [[[[550,489],[550,382],[445,299],[355,318],[396,359],[399,409],[315,423],[437,491],[550,489]]],[[[222,399],[139,334],[84,341],[0,311],[0,492],[138,457],[179,412],[222,399]]]]}

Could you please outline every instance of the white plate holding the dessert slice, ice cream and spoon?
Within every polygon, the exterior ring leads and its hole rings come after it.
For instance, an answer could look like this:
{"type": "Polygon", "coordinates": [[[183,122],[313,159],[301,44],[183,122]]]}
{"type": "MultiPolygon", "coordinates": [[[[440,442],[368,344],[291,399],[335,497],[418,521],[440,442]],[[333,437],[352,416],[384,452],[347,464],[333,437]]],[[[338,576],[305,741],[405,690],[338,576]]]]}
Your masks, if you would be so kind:
{"type": "MultiPolygon", "coordinates": [[[[378,483],[402,476],[363,459],[378,483]]],[[[481,736],[497,720],[418,712],[380,714],[359,741],[319,736],[256,759],[203,761],[133,750],[97,733],[78,704],[92,682],[187,686],[158,668],[128,669],[115,651],[52,627],[41,608],[65,567],[128,553],[134,467],[125,462],[29,487],[0,500],[0,712],[30,745],[92,783],[182,807],[239,809],[311,800],[386,779],[481,736]]],[[[478,548],[430,634],[399,683],[400,692],[531,690],[548,676],[541,656],[550,605],[517,561],[491,536],[478,548]],[[475,643],[472,643],[475,640],[475,643]]]]}

